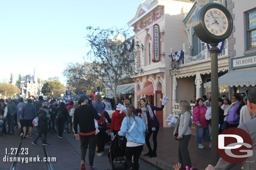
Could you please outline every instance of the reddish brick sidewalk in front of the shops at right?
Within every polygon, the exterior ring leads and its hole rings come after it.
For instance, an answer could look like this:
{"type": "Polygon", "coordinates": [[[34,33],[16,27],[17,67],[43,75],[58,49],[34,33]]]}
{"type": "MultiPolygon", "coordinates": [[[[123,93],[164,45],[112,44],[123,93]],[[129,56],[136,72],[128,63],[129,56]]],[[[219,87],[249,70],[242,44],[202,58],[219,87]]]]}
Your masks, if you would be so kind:
{"type": "MultiPolygon", "coordinates": [[[[143,154],[148,152],[147,146],[144,145],[141,158],[164,170],[173,170],[173,165],[179,162],[179,141],[175,140],[172,133],[173,128],[160,127],[157,135],[157,157],[150,158],[144,156],[143,154]]],[[[195,138],[196,136],[192,135],[188,144],[191,163],[193,167],[199,170],[204,170],[209,164],[211,164],[211,148],[209,148],[208,143],[203,143],[205,149],[199,149],[195,138]]],[[[150,137],[150,144],[153,147],[152,136],[150,137]]],[[[230,170],[240,170],[241,167],[242,163],[239,163],[230,170]]]]}

